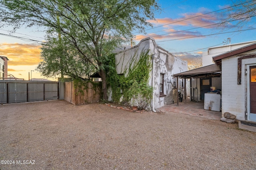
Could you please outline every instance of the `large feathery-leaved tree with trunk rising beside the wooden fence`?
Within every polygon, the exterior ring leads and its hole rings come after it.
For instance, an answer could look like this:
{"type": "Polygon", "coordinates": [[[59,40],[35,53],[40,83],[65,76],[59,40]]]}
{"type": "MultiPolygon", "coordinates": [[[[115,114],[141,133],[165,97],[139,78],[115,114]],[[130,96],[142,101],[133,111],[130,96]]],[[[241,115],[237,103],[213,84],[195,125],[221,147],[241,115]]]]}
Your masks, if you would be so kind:
{"type": "MultiPolygon", "coordinates": [[[[152,26],[148,19],[154,20],[159,11],[156,0],[0,0],[0,6],[0,27],[12,26],[15,31],[36,25],[65,37],[68,52],[79,57],[78,61],[73,57],[68,62],[94,66],[102,78],[104,99],[107,98],[104,63],[108,55],[122,43],[130,42],[134,30],[144,32],[145,26],[152,26]]],[[[48,61],[41,63],[39,69],[43,74],[56,74],[58,66],[55,63],[54,69],[48,71],[48,61]]],[[[68,68],[76,69],[74,65],[68,68]]],[[[80,66],[72,72],[79,73],[80,66]]]]}

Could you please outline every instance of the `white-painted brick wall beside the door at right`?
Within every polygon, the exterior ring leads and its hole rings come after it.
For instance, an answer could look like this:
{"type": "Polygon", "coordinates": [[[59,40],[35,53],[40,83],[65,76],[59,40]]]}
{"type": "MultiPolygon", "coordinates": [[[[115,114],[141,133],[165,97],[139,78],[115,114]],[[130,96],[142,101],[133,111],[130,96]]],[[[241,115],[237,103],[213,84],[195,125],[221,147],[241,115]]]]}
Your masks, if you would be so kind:
{"type": "MultiPolygon", "coordinates": [[[[250,51],[245,54],[255,54],[256,51],[250,51]]],[[[245,119],[247,76],[245,76],[246,64],[256,64],[256,58],[242,59],[241,84],[237,84],[238,76],[238,57],[232,56],[222,59],[222,116],[225,112],[236,115],[239,120],[245,119]]]]}

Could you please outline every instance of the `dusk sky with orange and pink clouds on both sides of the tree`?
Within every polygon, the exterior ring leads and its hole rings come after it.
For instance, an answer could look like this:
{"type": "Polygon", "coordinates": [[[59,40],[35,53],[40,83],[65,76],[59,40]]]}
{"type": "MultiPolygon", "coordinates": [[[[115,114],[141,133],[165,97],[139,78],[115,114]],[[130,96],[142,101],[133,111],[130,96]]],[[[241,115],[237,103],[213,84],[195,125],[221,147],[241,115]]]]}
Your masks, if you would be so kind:
{"type": "MultiPolygon", "coordinates": [[[[234,28],[236,22],[227,28],[216,25],[227,15],[222,9],[234,5],[231,0],[159,0],[159,4],[162,12],[155,14],[155,21],[149,20],[154,27],[148,27],[146,35],[134,30],[136,43],[145,37],[153,37],[160,47],[189,63],[194,57],[202,56],[208,47],[226,44],[223,42],[228,38],[232,44],[256,40],[256,25],[244,25],[241,28],[244,31],[234,28]]],[[[250,23],[256,23],[255,17],[250,18],[253,20],[250,23]]],[[[28,72],[35,70],[40,61],[41,43],[2,35],[9,35],[8,30],[11,28],[0,28],[0,56],[9,59],[8,73],[28,80],[28,72]]],[[[37,27],[22,28],[11,35],[44,41],[41,30],[37,27]]],[[[44,77],[33,71],[32,78],[44,77]]]]}

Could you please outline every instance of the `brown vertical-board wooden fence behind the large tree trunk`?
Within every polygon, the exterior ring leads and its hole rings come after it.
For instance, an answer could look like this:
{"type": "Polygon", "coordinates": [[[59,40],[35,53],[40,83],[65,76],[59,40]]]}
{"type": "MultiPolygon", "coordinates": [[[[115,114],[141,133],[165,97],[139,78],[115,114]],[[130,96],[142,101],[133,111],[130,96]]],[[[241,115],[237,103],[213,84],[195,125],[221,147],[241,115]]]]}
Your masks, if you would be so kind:
{"type": "Polygon", "coordinates": [[[96,103],[101,98],[101,82],[85,82],[83,86],[75,86],[74,82],[65,82],[64,100],[74,104],[96,103]]]}

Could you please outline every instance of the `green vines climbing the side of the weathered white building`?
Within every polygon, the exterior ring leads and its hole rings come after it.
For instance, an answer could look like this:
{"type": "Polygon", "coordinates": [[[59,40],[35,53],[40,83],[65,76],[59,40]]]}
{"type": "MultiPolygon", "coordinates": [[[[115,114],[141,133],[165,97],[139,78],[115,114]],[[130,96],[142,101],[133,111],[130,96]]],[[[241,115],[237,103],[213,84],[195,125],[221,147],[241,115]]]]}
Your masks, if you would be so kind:
{"type": "Polygon", "coordinates": [[[108,62],[107,81],[112,90],[112,99],[119,102],[121,96],[123,102],[139,109],[144,109],[152,99],[153,87],[148,85],[150,72],[152,69],[151,55],[148,51],[142,51],[132,57],[131,63],[124,68],[124,74],[117,74],[114,54],[108,62]],[[126,75],[126,76],[125,76],[126,75]]]}

